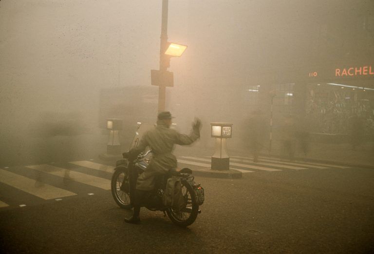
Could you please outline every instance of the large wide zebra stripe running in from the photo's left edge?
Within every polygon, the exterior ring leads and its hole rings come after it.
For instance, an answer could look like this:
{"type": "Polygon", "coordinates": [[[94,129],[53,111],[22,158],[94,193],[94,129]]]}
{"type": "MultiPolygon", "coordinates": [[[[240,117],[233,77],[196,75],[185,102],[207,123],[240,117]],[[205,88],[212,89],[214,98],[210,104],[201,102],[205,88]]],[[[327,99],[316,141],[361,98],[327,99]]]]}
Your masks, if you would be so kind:
{"type": "Polygon", "coordinates": [[[40,187],[35,187],[34,179],[20,176],[3,169],[0,169],[0,182],[43,199],[54,199],[57,197],[76,195],[73,192],[69,192],[49,184],[43,184],[40,187]]]}

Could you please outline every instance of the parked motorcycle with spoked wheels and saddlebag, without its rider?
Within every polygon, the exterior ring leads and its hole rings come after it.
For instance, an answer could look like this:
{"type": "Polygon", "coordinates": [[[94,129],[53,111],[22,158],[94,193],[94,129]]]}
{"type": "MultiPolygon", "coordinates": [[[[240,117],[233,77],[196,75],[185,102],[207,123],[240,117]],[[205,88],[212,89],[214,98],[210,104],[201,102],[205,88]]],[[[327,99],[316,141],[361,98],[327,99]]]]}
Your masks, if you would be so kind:
{"type": "MultiPolygon", "coordinates": [[[[116,162],[112,176],[112,196],[117,205],[123,209],[132,209],[131,196],[135,191],[137,177],[144,172],[149,164],[147,153],[141,153],[133,161],[124,158],[116,162]]],[[[170,220],[180,227],[191,225],[201,213],[199,206],[204,203],[204,188],[199,183],[195,183],[192,170],[184,168],[177,171],[169,171],[166,175],[161,175],[156,179],[156,187],[150,191],[144,200],[144,206],[150,211],[162,211],[164,216],[168,215],[170,220]],[[180,177],[182,185],[182,195],[184,206],[175,209],[171,206],[164,205],[163,198],[169,177],[180,177]]]]}

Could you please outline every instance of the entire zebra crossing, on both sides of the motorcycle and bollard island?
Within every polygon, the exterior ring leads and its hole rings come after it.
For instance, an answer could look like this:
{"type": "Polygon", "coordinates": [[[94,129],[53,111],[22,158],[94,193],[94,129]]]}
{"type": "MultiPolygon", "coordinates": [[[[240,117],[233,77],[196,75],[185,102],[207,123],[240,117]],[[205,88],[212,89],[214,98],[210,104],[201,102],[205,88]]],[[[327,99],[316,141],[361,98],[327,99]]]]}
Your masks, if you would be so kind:
{"type": "MultiPolygon", "coordinates": [[[[56,202],[111,189],[114,166],[92,160],[51,164],[0,168],[0,209],[56,202]]],[[[188,167],[192,170],[209,169],[211,158],[180,156],[178,167],[188,167]]],[[[260,157],[256,163],[251,156],[230,157],[230,169],[242,173],[343,168],[347,167],[327,163],[284,161],[266,156],[260,157]]]]}

